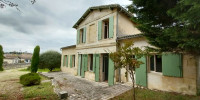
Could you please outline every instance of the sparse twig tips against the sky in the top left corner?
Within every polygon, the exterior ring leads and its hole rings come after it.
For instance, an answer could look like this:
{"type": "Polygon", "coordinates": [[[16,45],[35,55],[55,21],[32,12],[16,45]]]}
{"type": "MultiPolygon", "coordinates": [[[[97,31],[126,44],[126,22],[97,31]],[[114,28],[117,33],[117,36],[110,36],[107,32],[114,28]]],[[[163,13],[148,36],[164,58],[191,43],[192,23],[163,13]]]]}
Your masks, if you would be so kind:
{"type": "MultiPolygon", "coordinates": [[[[30,2],[31,4],[34,4],[36,0],[30,0],[30,2]]],[[[18,3],[14,3],[13,1],[10,0],[0,0],[0,8],[5,8],[6,6],[15,7],[17,10],[19,10],[18,3]]]]}

